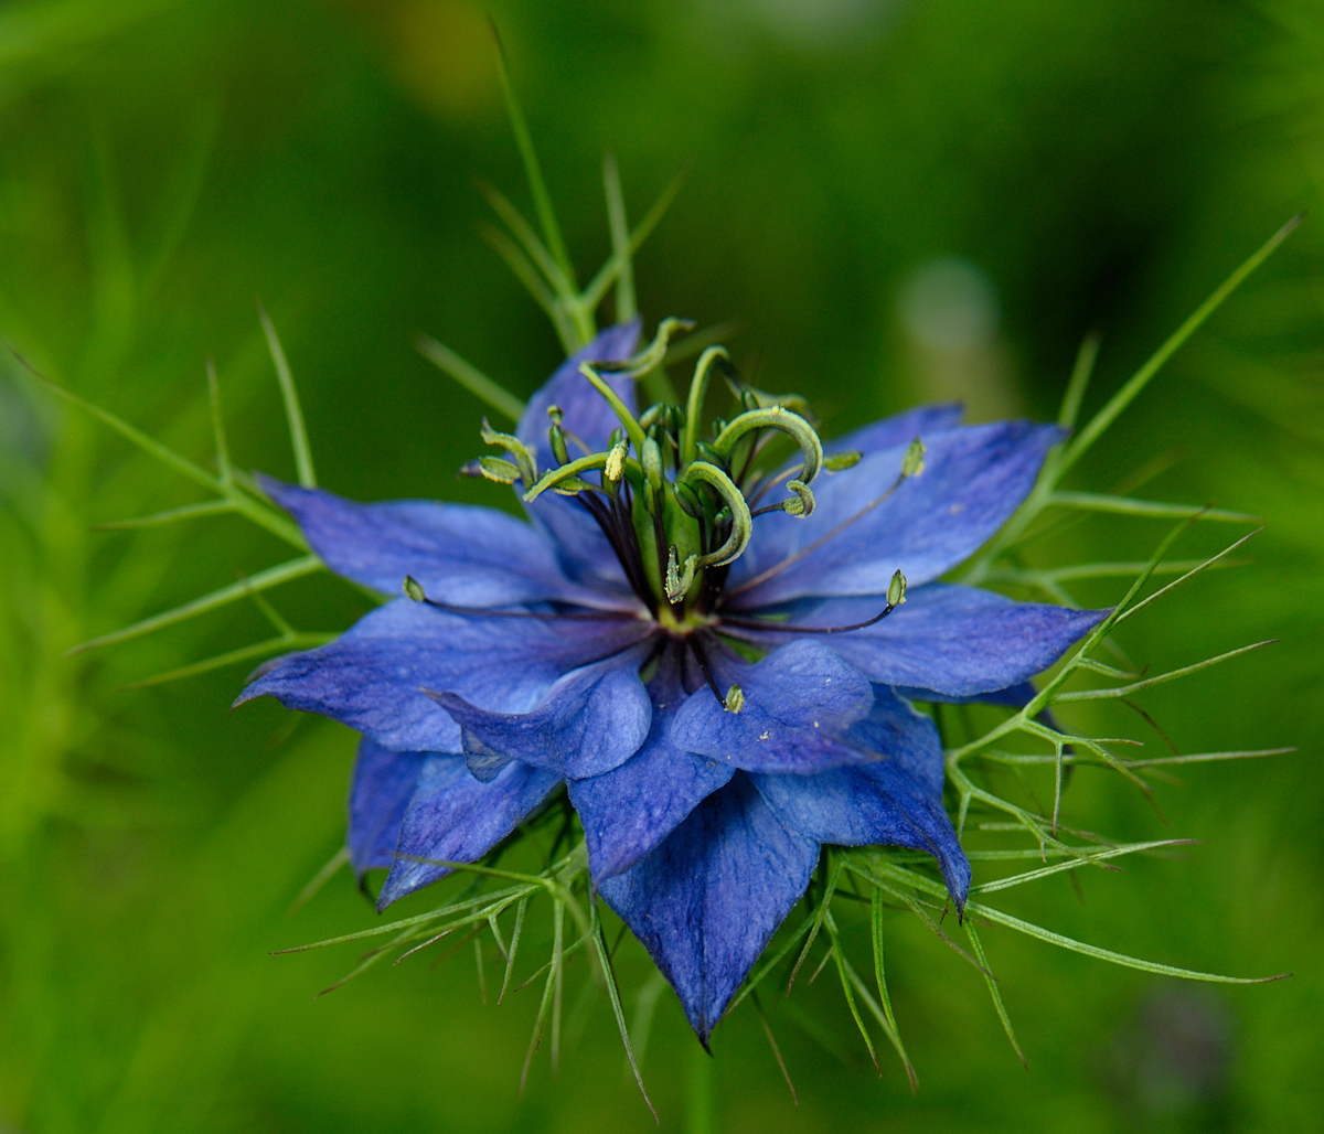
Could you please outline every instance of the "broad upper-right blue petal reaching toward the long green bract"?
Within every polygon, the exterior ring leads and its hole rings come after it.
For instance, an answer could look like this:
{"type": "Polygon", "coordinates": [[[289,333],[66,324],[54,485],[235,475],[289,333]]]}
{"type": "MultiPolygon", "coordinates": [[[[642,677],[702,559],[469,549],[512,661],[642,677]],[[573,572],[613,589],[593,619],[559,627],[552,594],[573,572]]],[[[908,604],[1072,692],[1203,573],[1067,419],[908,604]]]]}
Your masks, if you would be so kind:
{"type": "Polygon", "coordinates": [[[749,550],[732,569],[730,588],[739,591],[732,606],[752,610],[804,595],[884,594],[895,570],[911,586],[937,578],[1016,511],[1045,454],[1062,437],[1054,425],[1027,421],[933,434],[927,439],[924,472],[887,499],[906,453],[900,446],[816,480],[813,516],[775,512],[755,523],[749,550]]]}

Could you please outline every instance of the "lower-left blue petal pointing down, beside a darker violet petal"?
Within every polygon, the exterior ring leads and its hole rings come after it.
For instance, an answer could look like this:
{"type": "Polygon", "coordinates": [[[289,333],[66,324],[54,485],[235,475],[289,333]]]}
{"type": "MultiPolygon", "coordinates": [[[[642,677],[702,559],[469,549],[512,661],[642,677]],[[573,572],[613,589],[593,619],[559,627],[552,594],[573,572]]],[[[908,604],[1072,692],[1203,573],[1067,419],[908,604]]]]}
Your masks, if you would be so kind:
{"type": "Polygon", "coordinates": [[[504,839],[560,782],[553,771],[511,763],[491,783],[479,783],[458,756],[429,756],[405,811],[395,864],[377,894],[377,909],[449,875],[449,867],[401,859],[473,863],[504,839]]]}

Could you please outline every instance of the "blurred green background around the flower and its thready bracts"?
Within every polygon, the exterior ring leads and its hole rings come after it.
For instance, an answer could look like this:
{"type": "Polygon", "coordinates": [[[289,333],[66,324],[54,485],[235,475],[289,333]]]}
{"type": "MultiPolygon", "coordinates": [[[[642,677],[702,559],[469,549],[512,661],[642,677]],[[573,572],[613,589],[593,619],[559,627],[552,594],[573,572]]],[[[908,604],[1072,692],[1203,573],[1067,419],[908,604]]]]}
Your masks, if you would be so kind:
{"type": "MultiPolygon", "coordinates": [[[[608,251],[602,152],[618,155],[634,216],[690,163],[637,263],[650,324],[737,320],[737,360],[764,388],[813,397],[829,431],[932,397],[964,397],[976,418],[1051,417],[1098,327],[1088,410],[1288,216],[1319,205],[1324,11],[1308,0],[493,12],[581,278],[608,251]]],[[[214,356],[237,463],[293,475],[261,296],[326,487],[493,502],[454,478],[482,406],[412,347],[432,333],[522,396],[557,361],[551,328],[475,234],[478,176],[527,202],[482,11],[462,0],[0,8],[0,333],[193,459],[209,460],[214,356]]],[[[1158,670],[1282,638],[1144,705],[1182,752],[1300,753],[1161,786],[1169,827],[1082,773],[1067,797],[1078,826],[1202,846],[1090,872],[1080,897],[1054,877],[1004,902],[1153,959],[1295,979],[1177,986],[989,929],[1023,1072],[978,974],[890,914],[919,1094],[894,1061],[874,1076],[825,979],[797,990],[794,1016],[772,1016],[798,1106],[756,1016],[719,1029],[716,1129],[1316,1127],[1321,316],[1312,216],[1070,486],[1107,491],[1140,471],[1139,495],[1266,517],[1253,564],[1204,577],[1121,643],[1158,670]]],[[[266,636],[244,606],[62,656],[285,556],[237,519],[93,531],[193,499],[0,360],[0,1130],[653,1129],[601,1002],[560,1076],[540,1059],[516,1097],[535,991],[485,1007],[465,953],[437,971],[384,966],[314,1002],[354,950],[269,955],[375,922],[344,873],[286,916],[343,836],[354,737],[271,703],[230,716],[242,667],[124,691],[266,636]]],[[[1144,557],[1162,531],[1096,517],[1034,561],[1144,557]]],[[[1201,529],[1182,553],[1229,533],[1201,529]]],[[[273,598],[307,630],[363,610],[324,577],[273,598]]],[[[1125,709],[1070,722],[1161,752],[1125,709]]],[[[637,945],[621,967],[633,1015],[637,945]]],[[[663,1130],[683,1127],[692,1048],[667,992],[643,1063],[663,1130]]]]}

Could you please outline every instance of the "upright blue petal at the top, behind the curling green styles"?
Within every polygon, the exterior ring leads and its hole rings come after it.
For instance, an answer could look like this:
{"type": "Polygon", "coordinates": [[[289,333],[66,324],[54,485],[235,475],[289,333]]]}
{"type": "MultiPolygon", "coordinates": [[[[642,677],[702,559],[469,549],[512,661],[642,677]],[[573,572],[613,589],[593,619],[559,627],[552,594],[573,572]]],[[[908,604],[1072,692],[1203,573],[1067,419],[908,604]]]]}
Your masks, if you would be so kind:
{"type": "MultiPolygon", "coordinates": [[[[612,430],[620,422],[602,396],[580,373],[580,363],[617,363],[629,359],[638,339],[638,320],[608,328],[561,363],[547,384],[528,400],[516,435],[535,450],[540,470],[551,468],[556,463],[547,439],[551,426],[547,408],[551,405],[559,406],[564,414],[561,427],[583,441],[591,453],[600,453],[606,447],[612,430]]],[[[604,374],[604,378],[633,410],[634,380],[621,374],[604,374]]],[[[584,455],[572,438],[567,438],[567,447],[572,459],[584,455]]],[[[544,492],[527,507],[534,523],[556,545],[561,566],[571,578],[597,588],[609,588],[618,595],[629,593],[612,545],[583,504],[557,496],[555,492],[544,492]]]]}

